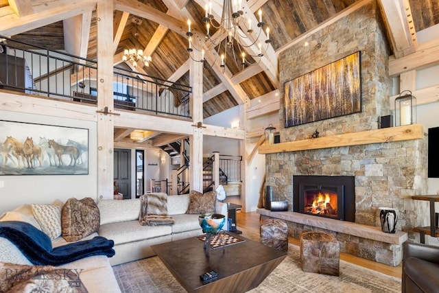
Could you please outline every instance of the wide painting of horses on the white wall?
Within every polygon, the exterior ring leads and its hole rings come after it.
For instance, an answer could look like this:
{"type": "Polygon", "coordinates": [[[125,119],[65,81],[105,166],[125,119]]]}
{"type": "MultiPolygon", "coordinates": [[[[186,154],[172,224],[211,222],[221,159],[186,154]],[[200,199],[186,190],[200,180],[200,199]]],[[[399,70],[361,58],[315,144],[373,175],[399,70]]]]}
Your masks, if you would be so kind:
{"type": "Polygon", "coordinates": [[[88,129],[0,120],[0,175],[88,175],[88,129]]]}

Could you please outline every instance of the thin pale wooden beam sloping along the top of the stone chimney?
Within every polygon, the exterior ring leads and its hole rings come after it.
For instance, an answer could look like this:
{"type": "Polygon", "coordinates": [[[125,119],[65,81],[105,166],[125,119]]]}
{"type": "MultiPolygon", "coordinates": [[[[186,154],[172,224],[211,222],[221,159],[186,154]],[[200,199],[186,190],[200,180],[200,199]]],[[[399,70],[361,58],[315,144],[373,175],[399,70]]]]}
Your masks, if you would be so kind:
{"type": "Polygon", "coordinates": [[[279,54],[281,54],[286,49],[289,49],[289,48],[293,47],[294,45],[296,45],[297,43],[300,43],[300,42],[306,40],[307,38],[309,38],[309,36],[324,29],[324,27],[328,27],[329,25],[331,25],[337,21],[340,21],[340,19],[343,19],[344,17],[348,16],[349,14],[351,14],[352,12],[354,12],[355,10],[357,10],[359,8],[362,8],[365,5],[368,5],[372,1],[374,1],[374,0],[361,0],[361,1],[357,1],[357,2],[353,3],[352,5],[349,5],[347,8],[345,8],[344,10],[339,12],[338,14],[332,16],[331,18],[327,19],[326,21],[323,21],[322,23],[320,23],[320,25],[314,27],[312,30],[305,32],[305,34],[301,34],[297,38],[294,38],[294,40],[292,40],[291,42],[278,48],[276,50],[276,55],[279,56],[279,54]]]}

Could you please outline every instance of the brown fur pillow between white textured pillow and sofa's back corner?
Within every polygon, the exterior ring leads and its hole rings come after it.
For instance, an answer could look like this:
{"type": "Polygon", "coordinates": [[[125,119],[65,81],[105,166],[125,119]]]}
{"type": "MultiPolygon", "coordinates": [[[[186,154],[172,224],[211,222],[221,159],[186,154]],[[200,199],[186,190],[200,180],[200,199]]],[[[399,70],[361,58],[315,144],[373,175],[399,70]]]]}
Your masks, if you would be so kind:
{"type": "Polygon", "coordinates": [[[92,198],[69,198],[62,207],[62,237],[67,242],[78,241],[99,230],[99,209],[92,198]]]}

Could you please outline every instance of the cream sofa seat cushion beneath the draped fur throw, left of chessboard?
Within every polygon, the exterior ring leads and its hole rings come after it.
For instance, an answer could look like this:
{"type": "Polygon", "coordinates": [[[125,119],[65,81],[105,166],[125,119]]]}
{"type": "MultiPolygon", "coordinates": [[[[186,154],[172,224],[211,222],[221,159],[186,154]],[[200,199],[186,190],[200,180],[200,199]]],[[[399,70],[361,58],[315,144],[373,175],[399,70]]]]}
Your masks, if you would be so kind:
{"type": "Polygon", "coordinates": [[[115,246],[171,234],[171,226],[141,226],[139,220],[101,225],[99,235],[112,239],[115,246]]]}

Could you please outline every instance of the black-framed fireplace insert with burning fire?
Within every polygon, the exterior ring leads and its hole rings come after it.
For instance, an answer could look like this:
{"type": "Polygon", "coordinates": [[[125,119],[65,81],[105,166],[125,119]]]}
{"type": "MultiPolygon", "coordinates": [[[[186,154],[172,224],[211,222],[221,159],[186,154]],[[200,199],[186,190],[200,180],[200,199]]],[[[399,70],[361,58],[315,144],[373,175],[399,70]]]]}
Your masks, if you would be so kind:
{"type": "Polygon", "coordinates": [[[293,176],[293,211],[355,222],[355,177],[293,176]]]}

